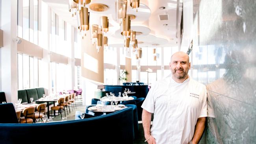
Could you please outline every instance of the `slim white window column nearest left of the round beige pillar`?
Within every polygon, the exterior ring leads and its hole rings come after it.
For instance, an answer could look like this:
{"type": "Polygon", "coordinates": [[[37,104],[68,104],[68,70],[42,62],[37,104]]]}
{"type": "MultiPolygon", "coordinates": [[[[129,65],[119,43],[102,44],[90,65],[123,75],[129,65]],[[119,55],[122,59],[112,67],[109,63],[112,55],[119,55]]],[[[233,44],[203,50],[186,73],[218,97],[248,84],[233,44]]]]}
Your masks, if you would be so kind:
{"type": "Polygon", "coordinates": [[[71,66],[71,89],[75,87],[75,50],[74,50],[74,42],[75,42],[75,28],[71,27],[71,58],[70,58],[70,66],[71,66]]]}

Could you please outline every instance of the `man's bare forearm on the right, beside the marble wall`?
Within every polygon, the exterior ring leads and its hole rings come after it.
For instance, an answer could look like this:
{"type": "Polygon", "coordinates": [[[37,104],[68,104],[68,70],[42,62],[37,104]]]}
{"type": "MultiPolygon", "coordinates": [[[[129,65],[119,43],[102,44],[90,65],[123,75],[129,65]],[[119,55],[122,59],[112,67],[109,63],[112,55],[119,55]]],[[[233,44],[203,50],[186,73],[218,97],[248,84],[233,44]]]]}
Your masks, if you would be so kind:
{"type": "Polygon", "coordinates": [[[197,124],[195,126],[195,132],[194,136],[192,138],[193,144],[198,144],[203,133],[204,133],[204,127],[205,127],[206,117],[198,118],[197,124]]]}

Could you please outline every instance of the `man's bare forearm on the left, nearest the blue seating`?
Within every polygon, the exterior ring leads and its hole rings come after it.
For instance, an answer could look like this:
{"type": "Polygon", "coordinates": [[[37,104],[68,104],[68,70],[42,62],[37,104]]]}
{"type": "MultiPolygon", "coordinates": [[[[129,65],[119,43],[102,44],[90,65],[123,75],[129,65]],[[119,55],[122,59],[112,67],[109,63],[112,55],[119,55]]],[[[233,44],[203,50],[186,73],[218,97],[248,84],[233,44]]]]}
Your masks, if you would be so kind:
{"type": "Polygon", "coordinates": [[[143,125],[144,135],[146,139],[150,136],[150,124],[151,124],[151,113],[143,109],[142,125],[143,125]]]}

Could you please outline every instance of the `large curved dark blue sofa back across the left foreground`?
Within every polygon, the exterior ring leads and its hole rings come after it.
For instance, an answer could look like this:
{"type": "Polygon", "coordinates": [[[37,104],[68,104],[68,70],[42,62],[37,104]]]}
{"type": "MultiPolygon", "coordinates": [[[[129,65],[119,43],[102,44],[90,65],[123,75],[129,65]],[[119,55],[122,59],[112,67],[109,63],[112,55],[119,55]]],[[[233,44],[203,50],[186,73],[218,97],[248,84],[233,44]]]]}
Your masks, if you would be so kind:
{"type": "Polygon", "coordinates": [[[18,144],[24,138],[26,143],[41,143],[42,140],[56,144],[67,143],[67,131],[72,131],[72,136],[75,136],[71,143],[132,144],[133,109],[128,107],[115,113],[83,120],[46,124],[0,124],[0,144],[18,144]]]}

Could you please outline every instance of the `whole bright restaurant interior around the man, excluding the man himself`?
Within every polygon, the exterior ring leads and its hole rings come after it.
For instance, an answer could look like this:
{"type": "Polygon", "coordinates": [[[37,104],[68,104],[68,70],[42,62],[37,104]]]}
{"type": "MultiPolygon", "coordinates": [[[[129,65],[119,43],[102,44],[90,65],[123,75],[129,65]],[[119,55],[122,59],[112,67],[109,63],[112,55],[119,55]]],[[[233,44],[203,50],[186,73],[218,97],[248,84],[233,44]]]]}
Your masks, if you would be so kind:
{"type": "Polygon", "coordinates": [[[147,143],[141,105],[181,51],[215,113],[199,144],[255,144],[255,6],[0,0],[0,143],[147,143]]]}

